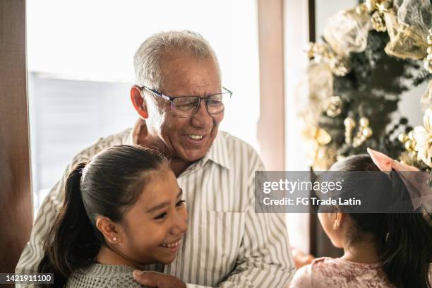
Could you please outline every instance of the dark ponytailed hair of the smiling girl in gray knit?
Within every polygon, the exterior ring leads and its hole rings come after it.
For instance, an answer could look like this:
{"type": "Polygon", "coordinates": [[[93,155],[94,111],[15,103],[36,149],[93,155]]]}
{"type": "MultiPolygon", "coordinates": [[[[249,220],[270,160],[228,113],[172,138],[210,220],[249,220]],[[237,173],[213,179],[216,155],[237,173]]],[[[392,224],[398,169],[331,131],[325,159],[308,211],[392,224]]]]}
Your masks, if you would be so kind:
{"type": "Polygon", "coordinates": [[[148,173],[164,164],[157,152],[136,145],[116,145],[77,164],[66,180],[64,204],[38,272],[54,273],[54,287],[63,287],[73,270],[92,263],[104,244],[96,216],[121,222],[149,181],[148,173]]]}

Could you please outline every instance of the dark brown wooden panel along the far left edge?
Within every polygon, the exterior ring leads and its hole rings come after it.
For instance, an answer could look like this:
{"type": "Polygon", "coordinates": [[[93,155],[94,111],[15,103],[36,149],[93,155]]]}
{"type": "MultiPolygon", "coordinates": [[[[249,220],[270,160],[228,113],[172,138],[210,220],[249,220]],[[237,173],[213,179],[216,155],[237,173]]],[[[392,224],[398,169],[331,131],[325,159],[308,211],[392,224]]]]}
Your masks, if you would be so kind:
{"type": "Polygon", "coordinates": [[[25,0],[0,1],[0,272],[13,272],[30,238],[32,198],[25,0]]]}

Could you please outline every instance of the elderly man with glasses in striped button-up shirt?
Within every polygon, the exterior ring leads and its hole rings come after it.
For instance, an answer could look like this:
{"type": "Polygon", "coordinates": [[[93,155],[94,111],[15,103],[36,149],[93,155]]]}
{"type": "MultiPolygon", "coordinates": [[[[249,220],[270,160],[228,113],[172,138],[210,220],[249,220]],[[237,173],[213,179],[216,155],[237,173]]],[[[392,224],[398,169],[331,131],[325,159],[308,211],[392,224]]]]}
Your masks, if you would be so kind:
{"type": "Polygon", "coordinates": [[[263,163],[250,145],[218,131],[224,101],[232,93],[222,88],[208,42],[193,32],[163,32],[141,44],[134,64],[131,100],[140,119],[73,159],[44,200],[16,272],[37,270],[71,167],[109,146],[138,143],[169,157],[189,213],[176,260],[146,269],[160,273],[135,273],[138,282],[150,287],[283,287],[295,270],[284,217],[255,213],[254,172],[263,170],[263,163]]]}

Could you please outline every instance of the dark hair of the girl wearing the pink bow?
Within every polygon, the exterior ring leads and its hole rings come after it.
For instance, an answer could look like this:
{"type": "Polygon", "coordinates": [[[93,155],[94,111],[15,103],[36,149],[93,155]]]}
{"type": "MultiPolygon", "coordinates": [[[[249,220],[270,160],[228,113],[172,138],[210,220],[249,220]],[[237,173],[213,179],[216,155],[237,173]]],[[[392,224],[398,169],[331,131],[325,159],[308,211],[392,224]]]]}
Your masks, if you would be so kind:
{"type": "MultiPolygon", "coordinates": [[[[335,163],[332,170],[380,171],[369,155],[347,157],[335,163]]],[[[349,187],[347,181],[350,180],[344,180],[344,189],[340,195],[342,198],[344,193],[350,193],[346,189],[349,187]]],[[[352,181],[358,183],[358,179],[352,179],[352,181]]],[[[403,194],[402,198],[409,198],[407,188],[397,173],[392,173],[388,179],[388,185],[391,191],[395,191],[394,193],[403,194]]],[[[392,197],[401,198],[401,196],[392,197]]],[[[421,213],[349,213],[349,217],[354,224],[354,231],[349,232],[351,234],[349,238],[351,241],[356,241],[356,239],[361,239],[361,234],[373,235],[380,260],[383,263],[382,268],[390,282],[396,287],[431,287],[428,270],[432,262],[432,227],[421,213]]]]}

